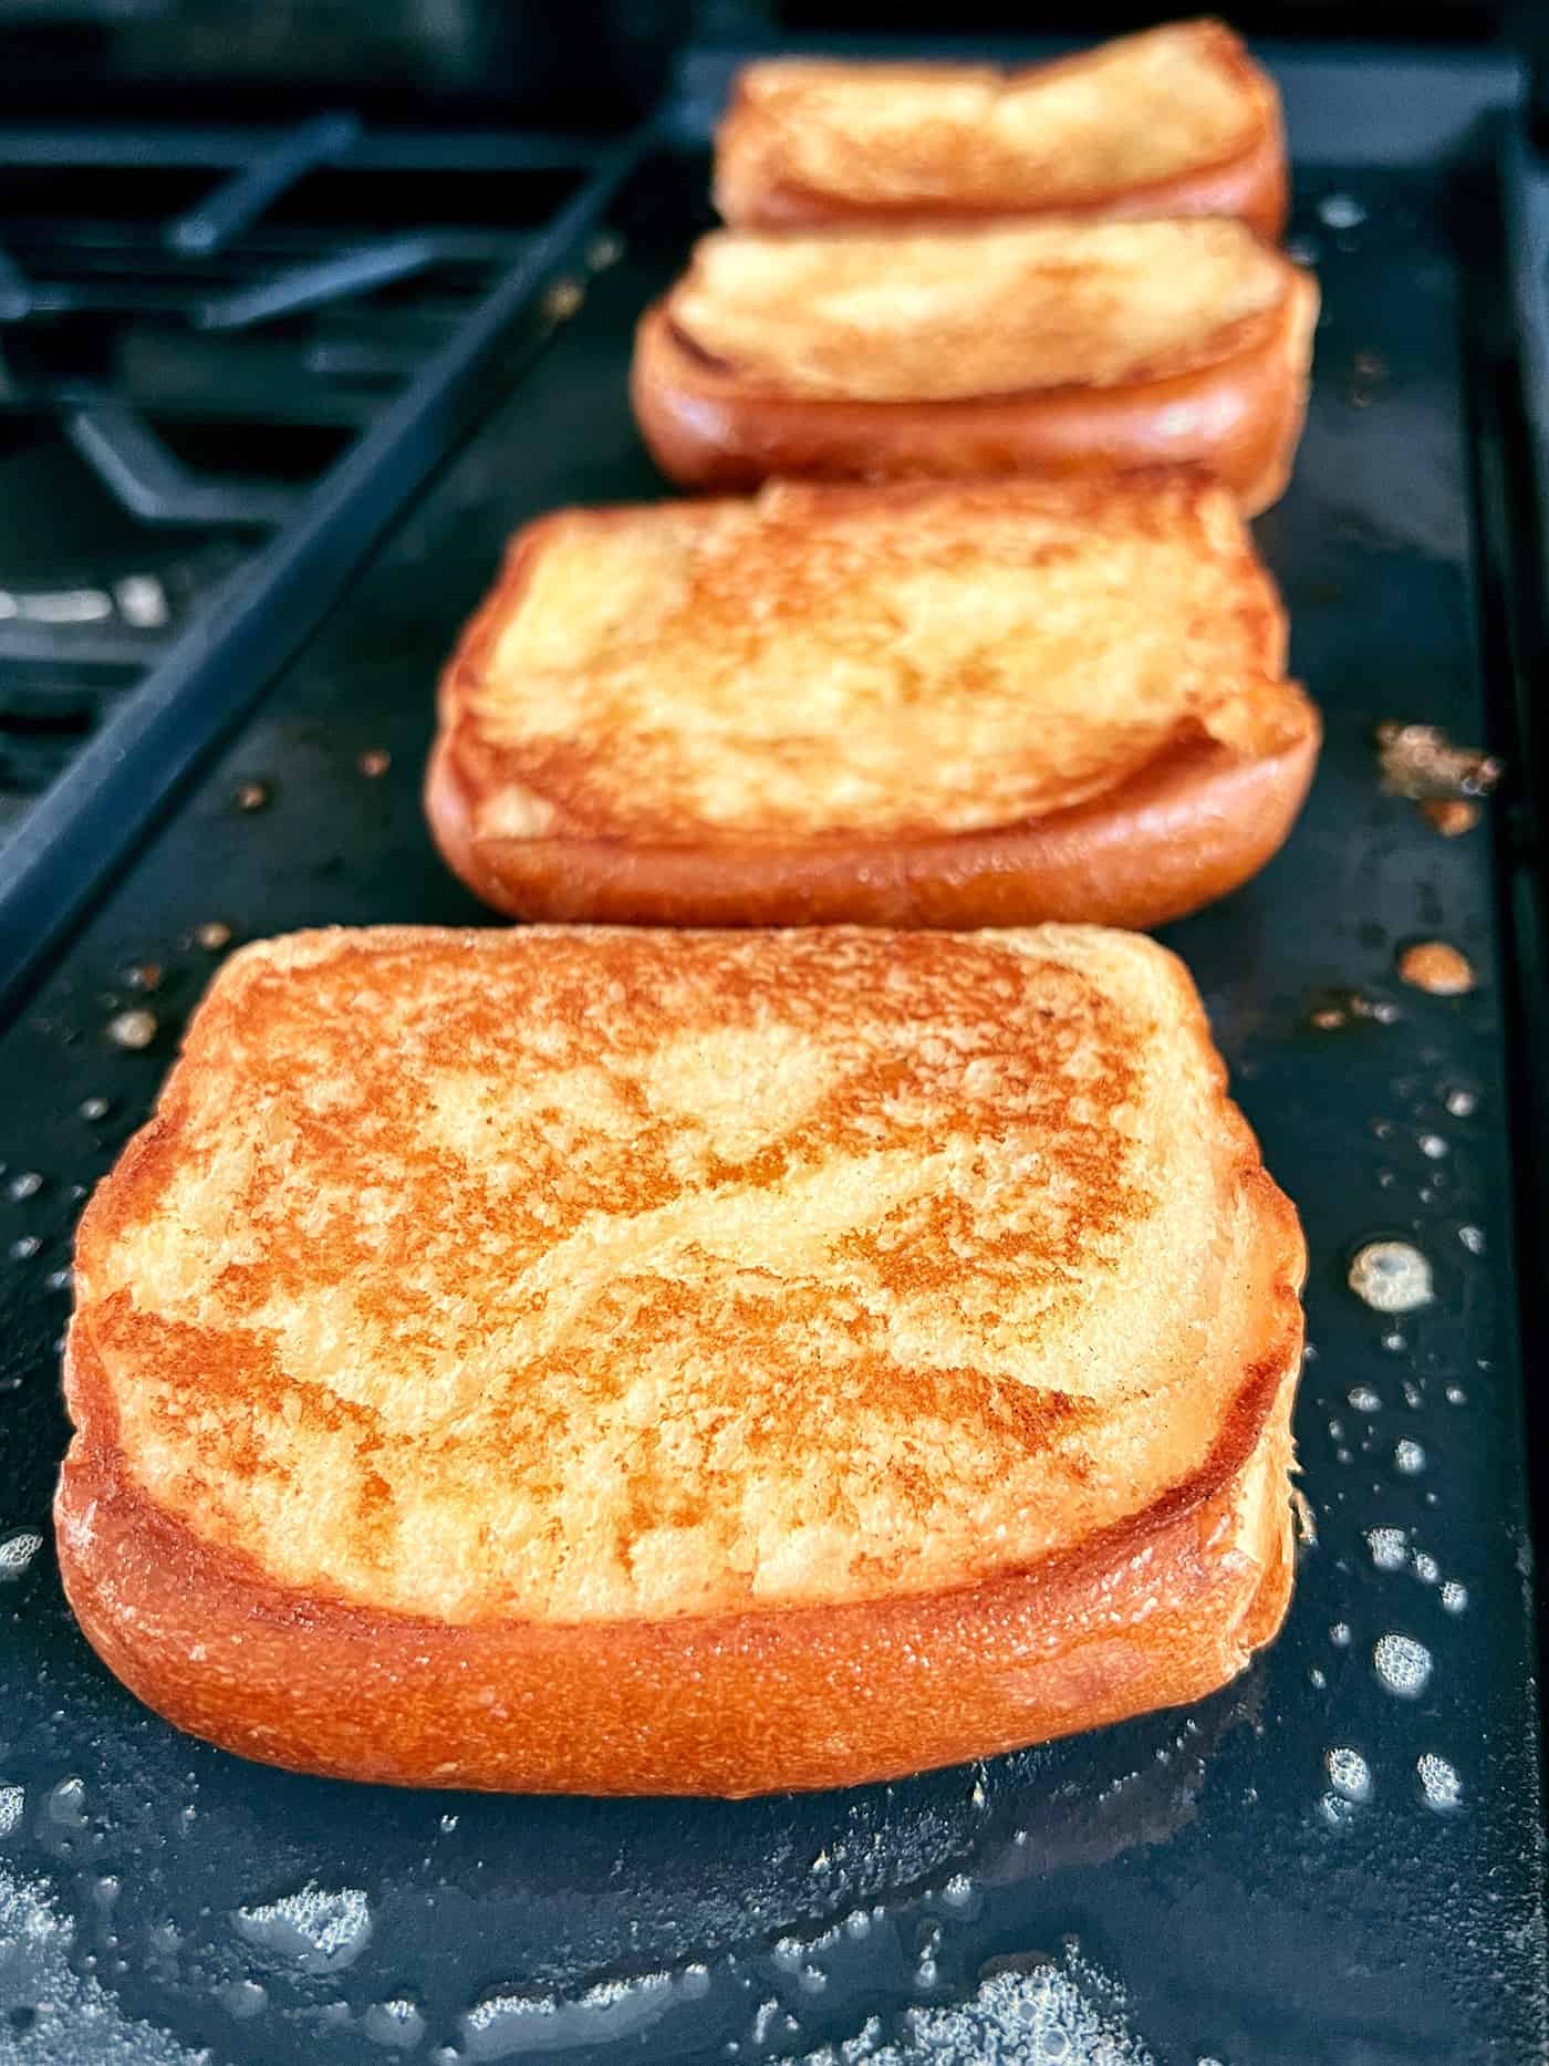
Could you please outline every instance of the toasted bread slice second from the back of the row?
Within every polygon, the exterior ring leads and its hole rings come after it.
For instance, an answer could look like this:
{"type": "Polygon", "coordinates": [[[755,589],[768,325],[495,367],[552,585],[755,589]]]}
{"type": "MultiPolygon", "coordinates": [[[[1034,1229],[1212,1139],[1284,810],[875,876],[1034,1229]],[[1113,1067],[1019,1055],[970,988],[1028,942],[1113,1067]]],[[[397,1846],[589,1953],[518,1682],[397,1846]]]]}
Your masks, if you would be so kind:
{"type": "Polygon", "coordinates": [[[702,238],[646,310],[634,413],[690,488],[828,477],[1291,471],[1318,289],[1231,221],[702,238]]]}

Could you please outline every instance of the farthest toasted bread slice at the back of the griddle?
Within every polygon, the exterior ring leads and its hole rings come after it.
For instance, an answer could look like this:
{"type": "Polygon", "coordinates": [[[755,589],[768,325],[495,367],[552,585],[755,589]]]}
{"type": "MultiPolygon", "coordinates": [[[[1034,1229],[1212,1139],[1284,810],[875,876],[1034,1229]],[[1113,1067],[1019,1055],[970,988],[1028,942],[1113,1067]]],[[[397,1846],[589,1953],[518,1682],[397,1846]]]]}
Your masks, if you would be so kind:
{"type": "Polygon", "coordinates": [[[785,58],[737,79],[715,200],[739,229],[1235,215],[1285,229],[1274,83],[1219,21],[1002,72],[785,58]]]}

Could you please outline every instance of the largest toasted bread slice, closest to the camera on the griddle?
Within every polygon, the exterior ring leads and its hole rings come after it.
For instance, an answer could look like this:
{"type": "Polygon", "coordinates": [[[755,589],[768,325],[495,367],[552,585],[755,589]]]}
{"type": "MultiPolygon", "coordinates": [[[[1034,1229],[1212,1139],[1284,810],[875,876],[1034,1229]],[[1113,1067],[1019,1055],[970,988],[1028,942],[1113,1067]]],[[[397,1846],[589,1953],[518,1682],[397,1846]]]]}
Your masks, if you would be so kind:
{"type": "Polygon", "coordinates": [[[1138,936],[262,942],[81,1225],[64,1585],[304,1771],[983,1756],[1274,1632],[1301,1269],[1138,936]]]}

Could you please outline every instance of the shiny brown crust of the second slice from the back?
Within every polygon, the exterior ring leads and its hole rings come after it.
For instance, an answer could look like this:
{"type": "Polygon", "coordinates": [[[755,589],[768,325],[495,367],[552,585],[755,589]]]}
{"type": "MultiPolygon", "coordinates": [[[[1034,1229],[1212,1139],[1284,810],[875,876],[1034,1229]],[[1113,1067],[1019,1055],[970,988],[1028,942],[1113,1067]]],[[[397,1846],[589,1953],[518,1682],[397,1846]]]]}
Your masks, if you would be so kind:
{"type": "Polygon", "coordinates": [[[1307,401],[1318,289],[1287,262],[1278,320],[1163,380],[969,401],[810,401],[750,382],[679,337],[667,302],[640,318],[630,399],[657,465],[684,488],[772,475],[962,479],[1198,465],[1258,514],[1283,492],[1307,401]]]}

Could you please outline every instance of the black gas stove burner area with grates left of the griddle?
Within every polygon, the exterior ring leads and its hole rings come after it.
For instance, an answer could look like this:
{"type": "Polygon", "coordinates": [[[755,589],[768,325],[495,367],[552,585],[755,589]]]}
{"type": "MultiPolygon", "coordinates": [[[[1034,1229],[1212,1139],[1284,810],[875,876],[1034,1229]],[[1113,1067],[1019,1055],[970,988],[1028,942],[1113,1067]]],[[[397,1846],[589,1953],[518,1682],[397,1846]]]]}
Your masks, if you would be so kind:
{"type": "Polygon", "coordinates": [[[593,157],[349,112],[0,128],[0,839],[306,523],[593,157]]]}

